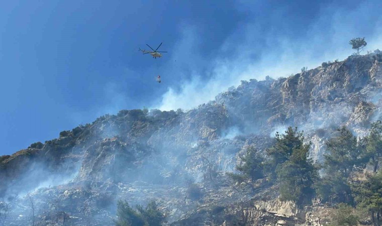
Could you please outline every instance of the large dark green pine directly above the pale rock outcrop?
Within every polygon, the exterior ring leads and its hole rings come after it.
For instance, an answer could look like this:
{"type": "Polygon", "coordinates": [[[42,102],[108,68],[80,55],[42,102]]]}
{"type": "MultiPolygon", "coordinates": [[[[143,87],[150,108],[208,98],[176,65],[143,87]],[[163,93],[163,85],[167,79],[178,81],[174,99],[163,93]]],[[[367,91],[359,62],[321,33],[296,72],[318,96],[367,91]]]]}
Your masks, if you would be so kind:
{"type": "Polygon", "coordinates": [[[285,134],[276,133],[276,143],[267,150],[265,163],[271,179],[277,179],[281,199],[298,204],[308,203],[315,194],[318,168],[309,159],[310,143],[304,144],[304,133],[289,127],[285,134]]]}

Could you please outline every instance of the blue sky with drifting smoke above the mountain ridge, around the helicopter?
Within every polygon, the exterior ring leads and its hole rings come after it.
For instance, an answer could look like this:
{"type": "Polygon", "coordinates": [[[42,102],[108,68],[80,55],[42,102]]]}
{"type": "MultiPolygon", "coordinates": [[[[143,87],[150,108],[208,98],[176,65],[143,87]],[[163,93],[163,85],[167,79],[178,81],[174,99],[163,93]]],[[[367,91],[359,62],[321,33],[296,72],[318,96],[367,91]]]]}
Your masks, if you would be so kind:
{"type": "Polygon", "coordinates": [[[0,155],[120,109],[187,109],[243,79],[342,60],[353,37],[382,49],[380,9],[380,1],[2,1],[0,155]],[[138,52],[161,42],[161,59],[138,52]]]}

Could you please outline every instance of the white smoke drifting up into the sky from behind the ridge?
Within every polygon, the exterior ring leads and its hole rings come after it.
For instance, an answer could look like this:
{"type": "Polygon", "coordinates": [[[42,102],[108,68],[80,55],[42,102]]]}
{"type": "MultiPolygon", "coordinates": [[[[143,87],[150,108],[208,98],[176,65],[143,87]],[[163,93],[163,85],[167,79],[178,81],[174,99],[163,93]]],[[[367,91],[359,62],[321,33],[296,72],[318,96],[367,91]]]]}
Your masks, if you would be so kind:
{"type": "MultiPolygon", "coordinates": [[[[382,15],[370,14],[375,6],[365,3],[352,10],[333,9],[328,6],[321,16],[307,28],[305,39],[285,39],[272,29],[264,33],[257,22],[248,22],[238,31],[244,30],[243,37],[237,41],[237,36],[228,37],[216,58],[209,60],[212,69],[204,72],[189,72],[190,79],[181,82],[180,88],[169,87],[163,94],[159,104],[153,107],[161,110],[190,109],[199,104],[213,100],[231,85],[239,85],[240,80],[250,78],[264,79],[266,75],[273,78],[299,73],[303,66],[308,69],[320,66],[324,61],[343,60],[354,52],[348,44],[353,37],[363,37],[362,23],[370,23],[367,31],[369,37],[367,50],[382,47],[382,15]],[[357,18],[355,21],[354,18],[357,18]],[[265,46],[256,46],[257,39],[265,39],[265,46]],[[225,55],[227,49],[234,49],[234,54],[225,55]],[[253,59],[253,53],[259,53],[253,59]],[[203,79],[209,77],[209,79],[203,79]]],[[[184,28],[185,31],[188,28],[184,28]]],[[[186,36],[179,41],[182,45],[192,40],[190,46],[198,43],[203,34],[183,32],[186,36]]],[[[299,34],[296,34],[297,36],[299,34]]],[[[197,48],[198,49],[198,48],[197,48]]],[[[366,52],[366,50],[365,50],[366,52]]],[[[193,53],[193,57],[203,53],[193,53]]],[[[203,59],[203,58],[201,58],[203,59]]],[[[194,63],[196,59],[190,59],[194,63]]]]}

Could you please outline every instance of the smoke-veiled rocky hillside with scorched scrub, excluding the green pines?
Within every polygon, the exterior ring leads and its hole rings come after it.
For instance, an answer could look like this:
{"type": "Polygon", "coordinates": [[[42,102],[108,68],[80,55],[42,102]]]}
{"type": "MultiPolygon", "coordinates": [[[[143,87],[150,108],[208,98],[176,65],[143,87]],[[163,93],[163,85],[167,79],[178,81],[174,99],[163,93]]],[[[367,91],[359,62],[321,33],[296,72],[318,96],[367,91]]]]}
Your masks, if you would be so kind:
{"type": "Polygon", "coordinates": [[[5,225],[30,225],[31,200],[35,225],[113,225],[118,199],[151,198],[171,225],[321,225],[319,206],[280,202],[265,180],[257,191],[237,189],[225,172],[248,145],[261,153],[288,126],[305,131],[311,156],[321,161],[325,140],[339,126],[362,136],[381,120],[381,97],[382,54],[375,51],[288,78],[242,81],[186,112],[135,109],[100,117],[0,157],[5,225]],[[189,195],[190,183],[201,197],[189,195]]]}

